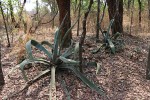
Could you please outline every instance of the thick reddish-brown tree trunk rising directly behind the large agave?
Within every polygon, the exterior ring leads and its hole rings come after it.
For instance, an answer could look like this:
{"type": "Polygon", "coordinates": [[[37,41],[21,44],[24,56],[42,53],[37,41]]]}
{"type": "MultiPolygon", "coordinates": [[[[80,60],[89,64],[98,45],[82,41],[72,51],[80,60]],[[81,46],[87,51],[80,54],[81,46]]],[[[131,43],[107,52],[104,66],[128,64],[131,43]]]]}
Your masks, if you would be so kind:
{"type": "MultiPolygon", "coordinates": [[[[65,33],[67,30],[71,27],[71,18],[70,18],[70,0],[56,0],[58,4],[58,9],[59,9],[59,22],[60,24],[62,23],[63,19],[64,24],[61,28],[61,39],[64,37],[65,33]]],[[[71,44],[71,39],[72,39],[72,34],[71,31],[69,32],[63,47],[68,47],[71,44]]]]}

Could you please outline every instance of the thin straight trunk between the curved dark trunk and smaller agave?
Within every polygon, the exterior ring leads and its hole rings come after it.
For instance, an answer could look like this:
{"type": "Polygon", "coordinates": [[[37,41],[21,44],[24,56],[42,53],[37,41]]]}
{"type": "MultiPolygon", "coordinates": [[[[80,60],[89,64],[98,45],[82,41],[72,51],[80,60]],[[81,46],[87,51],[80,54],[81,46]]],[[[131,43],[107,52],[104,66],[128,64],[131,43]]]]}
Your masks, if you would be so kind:
{"type": "Polygon", "coordinates": [[[97,25],[96,25],[96,42],[99,40],[99,16],[100,16],[100,0],[97,0],[97,25]]]}

